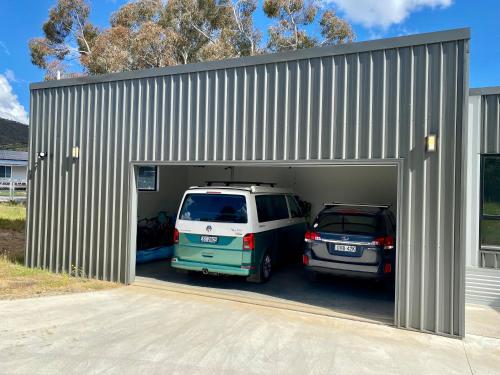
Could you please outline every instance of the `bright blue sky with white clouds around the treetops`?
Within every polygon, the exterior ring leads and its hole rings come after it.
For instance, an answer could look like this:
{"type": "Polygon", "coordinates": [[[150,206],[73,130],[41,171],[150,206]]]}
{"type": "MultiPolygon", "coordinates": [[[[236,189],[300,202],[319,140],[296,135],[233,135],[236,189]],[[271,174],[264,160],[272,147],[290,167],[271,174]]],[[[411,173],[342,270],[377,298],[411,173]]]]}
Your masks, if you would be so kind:
{"type": "MultiPolygon", "coordinates": [[[[106,26],[109,15],[125,0],[93,0],[91,20],[106,26]]],[[[55,0],[0,0],[0,117],[27,121],[29,83],[43,80],[33,66],[28,40],[55,0]]],[[[470,27],[471,87],[500,85],[500,1],[498,0],[324,0],[354,27],[357,40],[470,27]]],[[[259,9],[256,25],[265,33],[269,22],[259,9]]]]}

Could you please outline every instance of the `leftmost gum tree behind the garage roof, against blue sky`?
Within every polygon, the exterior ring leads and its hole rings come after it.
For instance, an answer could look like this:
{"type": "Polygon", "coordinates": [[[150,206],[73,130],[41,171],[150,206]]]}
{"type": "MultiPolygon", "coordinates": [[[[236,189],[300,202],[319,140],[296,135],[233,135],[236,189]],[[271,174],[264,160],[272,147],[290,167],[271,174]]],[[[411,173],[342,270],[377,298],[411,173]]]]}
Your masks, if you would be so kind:
{"type": "Polygon", "coordinates": [[[32,63],[46,69],[48,76],[55,67],[64,69],[64,62],[82,58],[84,64],[98,34],[88,22],[89,13],[85,0],[58,0],[42,26],[44,36],[29,41],[32,63]]]}

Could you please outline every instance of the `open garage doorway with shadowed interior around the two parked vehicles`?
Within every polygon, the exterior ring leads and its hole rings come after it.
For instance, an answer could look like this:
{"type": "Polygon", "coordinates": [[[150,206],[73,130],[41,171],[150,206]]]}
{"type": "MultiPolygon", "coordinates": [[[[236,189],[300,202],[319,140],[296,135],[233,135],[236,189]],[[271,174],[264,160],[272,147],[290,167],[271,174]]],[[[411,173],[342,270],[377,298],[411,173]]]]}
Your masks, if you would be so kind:
{"type": "MultiPolygon", "coordinates": [[[[137,233],[134,233],[135,259],[141,263],[131,264],[135,266],[136,282],[160,283],[183,291],[285,305],[325,315],[394,323],[394,285],[332,275],[311,280],[301,257],[275,268],[270,281],[264,284],[250,283],[238,276],[178,272],[171,267],[170,258],[177,210],[184,192],[191,186],[206,186],[207,181],[253,181],[291,189],[300,199],[312,229],[318,212],[325,203],[331,202],[387,205],[397,217],[397,165],[148,165],[136,166],[135,171],[136,183],[141,188],[135,197],[137,233]],[[159,234],[153,222],[161,224],[159,234]],[[153,228],[152,240],[148,239],[151,228],[147,225],[153,228]],[[160,251],[149,251],[157,248],[160,251]]],[[[394,274],[395,265],[396,262],[394,274]]]]}

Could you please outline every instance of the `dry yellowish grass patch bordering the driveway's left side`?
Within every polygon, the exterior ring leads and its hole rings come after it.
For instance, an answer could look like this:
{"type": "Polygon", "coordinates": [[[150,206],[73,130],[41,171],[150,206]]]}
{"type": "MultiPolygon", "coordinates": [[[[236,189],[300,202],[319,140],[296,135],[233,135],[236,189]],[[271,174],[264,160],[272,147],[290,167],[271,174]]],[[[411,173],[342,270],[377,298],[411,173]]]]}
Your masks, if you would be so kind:
{"type": "Polygon", "coordinates": [[[6,256],[0,256],[0,299],[88,292],[118,286],[116,283],[28,268],[11,261],[6,256]]]}

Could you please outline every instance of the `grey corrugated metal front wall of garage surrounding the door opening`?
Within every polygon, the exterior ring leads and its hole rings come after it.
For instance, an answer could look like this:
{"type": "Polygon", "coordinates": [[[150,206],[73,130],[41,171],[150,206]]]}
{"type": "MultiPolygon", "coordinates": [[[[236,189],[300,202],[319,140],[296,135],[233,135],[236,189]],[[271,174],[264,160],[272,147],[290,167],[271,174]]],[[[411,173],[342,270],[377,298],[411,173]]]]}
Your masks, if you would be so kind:
{"type": "Polygon", "coordinates": [[[397,325],[462,335],[468,39],[458,30],[32,85],[27,264],[128,282],[130,161],[402,158],[397,325]],[[429,133],[439,145],[428,154],[429,133]],[[37,151],[49,157],[36,163],[37,151]]]}

